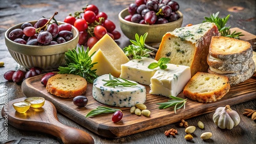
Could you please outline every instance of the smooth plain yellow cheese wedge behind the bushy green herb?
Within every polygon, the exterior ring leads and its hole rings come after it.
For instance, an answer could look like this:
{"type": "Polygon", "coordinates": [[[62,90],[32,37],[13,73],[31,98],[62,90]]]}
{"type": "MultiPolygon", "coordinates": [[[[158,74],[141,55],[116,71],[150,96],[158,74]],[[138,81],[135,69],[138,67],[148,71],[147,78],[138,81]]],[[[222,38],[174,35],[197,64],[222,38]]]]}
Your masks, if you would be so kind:
{"type": "MultiPolygon", "coordinates": [[[[124,64],[129,61],[129,58],[124,54],[122,49],[116,44],[116,42],[108,35],[105,34],[97,43],[94,44],[92,49],[89,51],[89,56],[93,54],[93,52],[97,52],[98,50],[101,52],[94,54],[92,57],[93,62],[98,62],[94,66],[97,66],[96,73],[97,74],[109,74],[111,71],[104,69],[106,66],[103,65],[112,65],[116,70],[114,70],[115,77],[119,77],[121,73],[121,64],[124,64]],[[102,53],[104,54],[104,60],[101,60],[102,53]],[[97,56],[100,55],[100,56],[97,56]],[[118,72],[118,73],[117,73],[118,72]]],[[[96,69],[93,67],[92,69],[96,69]]],[[[112,70],[112,68],[110,68],[112,70]]]]}

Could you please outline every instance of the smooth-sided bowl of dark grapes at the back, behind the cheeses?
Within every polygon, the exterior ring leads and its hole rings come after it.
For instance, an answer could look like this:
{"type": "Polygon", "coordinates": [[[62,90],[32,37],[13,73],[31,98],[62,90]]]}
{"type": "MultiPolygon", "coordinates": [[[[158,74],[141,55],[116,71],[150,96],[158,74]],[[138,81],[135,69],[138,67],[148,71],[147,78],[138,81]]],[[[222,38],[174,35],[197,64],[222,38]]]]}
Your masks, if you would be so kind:
{"type": "Polygon", "coordinates": [[[129,15],[128,8],[123,9],[118,14],[118,18],[120,21],[120,28],[127,38],[135,40],[136,33],[140,36],[147,32],[148,35],[145,41],[146,43],[160,43],[165,33],[172,32],[176,28],[181,27],[183,14],[180,11],[177,12],[180,15],[179,19],[172,22],[156,25],[143,25],[125,20],[124,17],[129,15]]]}

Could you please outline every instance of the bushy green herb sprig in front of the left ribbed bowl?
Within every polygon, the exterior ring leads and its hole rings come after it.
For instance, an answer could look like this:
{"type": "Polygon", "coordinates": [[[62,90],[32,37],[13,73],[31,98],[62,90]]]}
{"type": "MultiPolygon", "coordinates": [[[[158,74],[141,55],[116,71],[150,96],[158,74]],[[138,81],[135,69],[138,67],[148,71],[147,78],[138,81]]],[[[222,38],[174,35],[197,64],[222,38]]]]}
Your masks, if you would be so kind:
{"type": "Polygon", "coordinates": [[[91,69],[95,63],[92,63],[91,57],[95,54],[95,52],[89,56],[89,49],[85,52],[83,50],[83,46],[81,49],[78,49],[78,53],[76,49],[69,50],[65,53],[66,67],[59,66],[58,74],[74,74],[79,75],[86,79],[89,83],[93,83],[93,80],[98,77],[96,75],[97,69],[91,69]]]}

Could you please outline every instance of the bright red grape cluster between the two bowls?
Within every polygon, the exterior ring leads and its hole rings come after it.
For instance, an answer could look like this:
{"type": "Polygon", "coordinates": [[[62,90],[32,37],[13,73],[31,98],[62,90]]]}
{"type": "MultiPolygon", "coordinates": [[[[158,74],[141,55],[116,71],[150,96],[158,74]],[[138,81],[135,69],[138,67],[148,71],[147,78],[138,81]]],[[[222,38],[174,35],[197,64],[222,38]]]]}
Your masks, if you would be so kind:
{"type": "Polygon", "coordinates": [[[119,39],[121,34],[115,30],[115,23],[108,19],[108,15],[99,12],[95,5],[88,5],[77,11],[74,16],[70,14],[64,22],[75,26],[79,31],[80,45],[87,45],[90,49],[105,34],[109,34],[114,40],[119,39]]]}

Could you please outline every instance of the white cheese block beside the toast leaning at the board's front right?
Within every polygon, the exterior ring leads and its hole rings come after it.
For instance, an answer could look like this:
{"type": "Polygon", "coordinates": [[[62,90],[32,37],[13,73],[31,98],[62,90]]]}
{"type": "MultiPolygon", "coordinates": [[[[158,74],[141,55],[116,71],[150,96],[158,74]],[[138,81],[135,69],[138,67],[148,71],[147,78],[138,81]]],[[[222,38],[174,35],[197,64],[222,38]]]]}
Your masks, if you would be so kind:
{"type": "Polygon", "coordinates": [[[151,94],[176,97],[191,78],[190,67],[167,64],[166,69],[158,69],[151,78],[151,94]]]}

